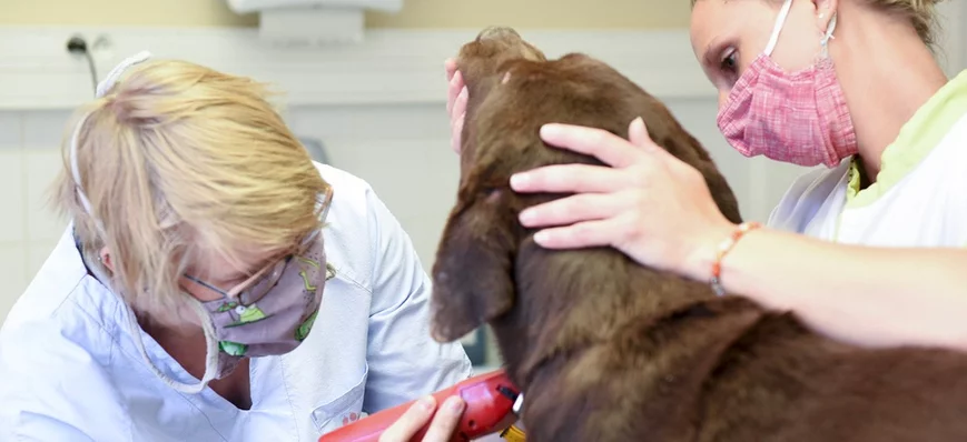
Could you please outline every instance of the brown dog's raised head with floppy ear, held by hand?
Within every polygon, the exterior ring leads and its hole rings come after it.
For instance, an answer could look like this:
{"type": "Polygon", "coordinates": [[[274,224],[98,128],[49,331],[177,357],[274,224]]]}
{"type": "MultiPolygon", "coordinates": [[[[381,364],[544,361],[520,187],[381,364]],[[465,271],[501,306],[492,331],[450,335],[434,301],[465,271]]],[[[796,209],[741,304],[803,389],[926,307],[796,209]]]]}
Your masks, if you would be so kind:
{"type": "MultiPolygon", "coordinates": [[[[652,140],[701,170],[723,213],[739,219],[731,190],[698,141],[660,101],[608,64],[583,54],[547,60],[515,31],[489,28],[461,49],[457,67],[470,101],[457,202],[433,269],[432,329],[436,340],[456,340],[511,312],[517,290],[546,284],[530,275],[563,268],[573,268],[574,274],[600,273],[595,265],[601,263],[582,268],[578,265],[580,257],[569,252],[554,252],[554,262],[534,259],[536,253],[550,252],[536,247],[533,232],[517,221],[524,208],[563,195],[517,194],[509,185],[512,174],[549,164],[601,164],[594,158],[545,145],[539,134],[545,123],[595,127],[626,139],[629,123],[641,117],[652,140]]],[[[619,255],[612,253],[609,259],[619,255]]],[[[579,291],[575,284],[583,282],[562,284],[532,291],[579,291]]],[[[547,300],[521,301],[549,305],[547,300]]],[[[517,318],[513,327],[541,327],[541,322],[551,321],[546,315],[554,314],[537,307],[527,310],[544,317],[517,318]]]]}

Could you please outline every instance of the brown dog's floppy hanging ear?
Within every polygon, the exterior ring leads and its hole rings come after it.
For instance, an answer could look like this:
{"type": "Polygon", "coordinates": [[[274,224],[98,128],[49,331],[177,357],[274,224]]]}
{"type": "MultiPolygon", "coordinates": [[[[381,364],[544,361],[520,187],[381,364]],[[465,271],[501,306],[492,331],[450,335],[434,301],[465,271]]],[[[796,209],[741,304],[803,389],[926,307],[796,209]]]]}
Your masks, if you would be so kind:
{"type": "Polygon", "coordinates": [[[501,201],[503,192],[509,190],[461,198],[443,231],[431,301],[433,338],[440,342],[466,335],[514,303],[516,219],[501,201]]]}

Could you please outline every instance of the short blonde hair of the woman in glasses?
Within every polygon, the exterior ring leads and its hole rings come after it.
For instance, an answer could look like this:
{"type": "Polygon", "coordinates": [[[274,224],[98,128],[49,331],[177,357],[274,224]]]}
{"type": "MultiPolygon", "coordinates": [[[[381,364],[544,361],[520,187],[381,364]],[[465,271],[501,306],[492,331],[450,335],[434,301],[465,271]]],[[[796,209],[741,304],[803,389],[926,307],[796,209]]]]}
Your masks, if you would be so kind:
{"type": "Polygon", "coordinates": [[[317,199],[328,184],[267,97],[250,79],[149,61],[68,125],[55,202],[88,263],[107,271],[96,258],[107,247],[111,284],[150,320],[198,323],[179,279],[213,253],[231,263],[282,255],[322,228],[317,199]],[[75,160],[90,214],[69,158],[85,115],[75,160]]]}

